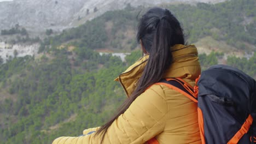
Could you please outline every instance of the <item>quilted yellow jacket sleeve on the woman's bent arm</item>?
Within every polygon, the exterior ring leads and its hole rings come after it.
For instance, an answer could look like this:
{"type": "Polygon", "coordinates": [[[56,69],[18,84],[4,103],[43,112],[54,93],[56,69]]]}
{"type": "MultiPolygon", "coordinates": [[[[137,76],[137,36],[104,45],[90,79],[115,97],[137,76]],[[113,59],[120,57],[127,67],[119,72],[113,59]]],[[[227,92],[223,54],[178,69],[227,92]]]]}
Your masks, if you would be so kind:
{"type": "MultiPolygon", "coordinates": [[[[110,125],[103,143],[145,143],[160,134],[166,124],[167,102],[159,85],[153,85],[139,95],[123,115],[110,125]]],[[[100,143],[101,135],[59,137],[53,144],[100,143]]]]}

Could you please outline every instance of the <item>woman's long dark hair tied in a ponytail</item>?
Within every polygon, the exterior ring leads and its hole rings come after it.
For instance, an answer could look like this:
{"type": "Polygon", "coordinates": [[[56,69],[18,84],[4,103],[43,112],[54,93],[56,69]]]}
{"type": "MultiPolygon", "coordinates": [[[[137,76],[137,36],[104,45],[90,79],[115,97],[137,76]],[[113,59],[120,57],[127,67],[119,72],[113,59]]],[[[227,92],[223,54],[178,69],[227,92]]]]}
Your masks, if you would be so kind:
{"type": "Polygon", "coordinates": [[[184,35],[179,21],[169,10],[152,8],[139,20],[137,41],[138,43],[141,41],[144,49],[149,53],[148,62],[135,91],[120,106],[117,114],[97,131],[97,134],[103,134],[102,141],[115,119],[123,114],[147,87],[162,78],[165,70],[170,67],[172,62],[171,46],[184,45],[184,35]]]}

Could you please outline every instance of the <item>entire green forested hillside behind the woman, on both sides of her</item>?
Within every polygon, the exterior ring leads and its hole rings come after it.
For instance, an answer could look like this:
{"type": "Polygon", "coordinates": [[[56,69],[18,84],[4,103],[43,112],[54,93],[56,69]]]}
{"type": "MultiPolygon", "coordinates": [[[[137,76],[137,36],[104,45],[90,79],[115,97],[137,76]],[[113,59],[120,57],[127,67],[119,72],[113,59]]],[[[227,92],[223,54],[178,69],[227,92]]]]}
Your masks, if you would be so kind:
{"type": "MultiPolygon", "coordinates": [[[[233,47],[200,54],[202,69],[223,59],[255,79],[256,53],[250,58],[223,58],[223,52],[255,52],[255,4],[254,0],[232,0],[165,7],[181,20],[189,43],[207,36],[233,47]]],[[[126,98],[113,80],[141,56],[135,49],[139,11],[129,5],[109,11],[46,38],[37,57],[14,57],[1,64],[0,143],[51,143],[56,137],[78,136],[106,122],[126,98]],[[95,51],[103,49],[132,52],[122,62],[95,51]]]]}

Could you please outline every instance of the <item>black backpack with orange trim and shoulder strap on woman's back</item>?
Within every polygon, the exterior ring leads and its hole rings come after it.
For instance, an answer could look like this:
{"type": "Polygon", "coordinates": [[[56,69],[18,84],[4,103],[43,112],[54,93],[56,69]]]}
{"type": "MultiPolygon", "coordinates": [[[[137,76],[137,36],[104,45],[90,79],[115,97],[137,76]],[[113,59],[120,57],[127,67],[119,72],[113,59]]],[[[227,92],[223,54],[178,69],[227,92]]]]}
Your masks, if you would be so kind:
{"type": "MultiPolygon", "coordinates": [[[[192,88],[184,80],[173,78],[155,84],[198,101],[202,144],[256,143],[255,80],[236,68],[214,65],[202,71],[196,83],[192,88]]],[[[157,143],[154,138],[150,141],[157,143]]]]}

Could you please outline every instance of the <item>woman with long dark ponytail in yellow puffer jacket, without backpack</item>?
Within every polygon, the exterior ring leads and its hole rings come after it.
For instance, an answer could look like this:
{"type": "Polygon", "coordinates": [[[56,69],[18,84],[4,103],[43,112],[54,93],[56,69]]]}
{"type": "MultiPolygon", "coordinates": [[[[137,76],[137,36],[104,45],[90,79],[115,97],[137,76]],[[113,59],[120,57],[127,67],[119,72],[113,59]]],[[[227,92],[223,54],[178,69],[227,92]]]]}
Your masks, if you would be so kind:
{"type": "Polygon", "coordinates": [[[191,86],[200,75],[194,45],[184,45],[182,28],[167,9],[152,8],[139,22],[137,41],[146,56],[116,79],[127,99],[119,112],[90,135],[59,137],[53,143],[201,143],[197,105],[164,85],[161,79],[181,77],[191,86]]]}

